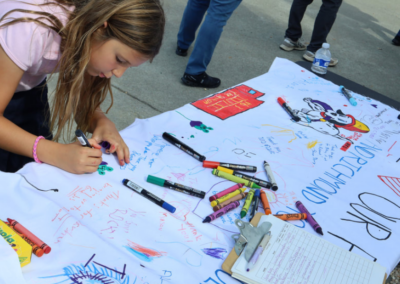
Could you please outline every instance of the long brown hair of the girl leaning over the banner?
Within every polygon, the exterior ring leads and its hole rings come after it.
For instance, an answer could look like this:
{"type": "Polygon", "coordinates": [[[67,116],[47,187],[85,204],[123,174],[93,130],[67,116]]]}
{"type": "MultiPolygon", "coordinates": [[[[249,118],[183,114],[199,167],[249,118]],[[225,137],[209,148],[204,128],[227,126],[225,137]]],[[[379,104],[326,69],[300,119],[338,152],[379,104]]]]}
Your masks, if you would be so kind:
{"type": "Polygon", "coordinates": [[[65,26],[49,13],[22,9],[8,12],[0,21],[14,11],[40,14],[36,19],[19,18],[3,26],[35,22],[61,36],[62,55],[57,64],[59,76],[51,111],[51,130],[56,131],[54,139],[58,140],[65,126],[71,131],[73,118],[77,127],[87,132],[95,110],[108,92],[111,105],[107,111],[112,106],[111,80],[85,76],[92,43],[116,39],[151,62],[161,47],[165,16],[159,0],[53,0],[41,5],[59,5],[66,13],[70,12],[65,6],[75,6],[75,9],[65,26]],[[107,27],[99,29],[104,22],[108,23],[107,27]]]}

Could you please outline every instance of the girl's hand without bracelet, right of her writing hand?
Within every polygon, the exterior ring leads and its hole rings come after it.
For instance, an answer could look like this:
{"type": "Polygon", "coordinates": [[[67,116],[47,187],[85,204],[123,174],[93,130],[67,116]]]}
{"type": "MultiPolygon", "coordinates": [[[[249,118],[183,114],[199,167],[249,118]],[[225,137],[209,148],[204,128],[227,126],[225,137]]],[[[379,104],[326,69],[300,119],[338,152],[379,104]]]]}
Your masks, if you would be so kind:
{"type": "Polygon", "coordinates": [[[106,150],[106,153],[116,153],[120,166],[130,162],[129,148],[126,146],[124,140],[115,127],[115,124],[108,118],[98,121],[97,127],[93,131],[92,139],[97,143],[103,141],[110,143],[110,149],[106,150]]]}

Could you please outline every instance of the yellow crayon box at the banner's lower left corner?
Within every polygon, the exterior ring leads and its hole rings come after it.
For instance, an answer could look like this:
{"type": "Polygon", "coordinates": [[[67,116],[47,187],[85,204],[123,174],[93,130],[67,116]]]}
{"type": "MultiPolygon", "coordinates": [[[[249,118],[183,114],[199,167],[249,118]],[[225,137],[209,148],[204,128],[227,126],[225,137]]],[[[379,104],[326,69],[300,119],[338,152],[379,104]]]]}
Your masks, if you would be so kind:
{"type": "Polygon", "coordinates": [[[32,258],[32,247],[22,239],[17,232],[7,226],[3,221],[0,220],[0,236],[2,236],[7,243],[17,252],[19,263],[21,267],[24,267],[31,262],[32,258]]]}

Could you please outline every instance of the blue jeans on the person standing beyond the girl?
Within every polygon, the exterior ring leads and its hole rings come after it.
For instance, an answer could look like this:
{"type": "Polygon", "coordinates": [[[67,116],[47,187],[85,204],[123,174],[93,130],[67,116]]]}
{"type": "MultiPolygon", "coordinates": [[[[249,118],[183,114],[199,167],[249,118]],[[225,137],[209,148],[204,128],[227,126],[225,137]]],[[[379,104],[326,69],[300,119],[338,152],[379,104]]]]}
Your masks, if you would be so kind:
{"type": "Polygon", "coordinates": [[[180,48],[190,47],[206,12],[207,16],[197,35],[185,73],[199,75],[206,71],[226,22],[241,2],[242,0],[188,1],[178,33],[180,48]]]}

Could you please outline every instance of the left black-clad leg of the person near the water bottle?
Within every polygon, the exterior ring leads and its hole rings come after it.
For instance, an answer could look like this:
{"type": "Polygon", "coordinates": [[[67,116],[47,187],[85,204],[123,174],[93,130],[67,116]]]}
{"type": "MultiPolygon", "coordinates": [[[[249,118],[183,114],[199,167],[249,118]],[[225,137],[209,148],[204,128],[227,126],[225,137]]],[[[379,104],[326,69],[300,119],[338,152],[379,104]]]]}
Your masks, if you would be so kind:
{"type": "Polygon", "coordinates": [[[301,30],[301,21],[303,20],[304,13],[307,6],[313,0],[293,0],[292,7],[289,13],[288,29],[285,32],[285,37],[290,38],[292,41],[297,41],[301,38],[303,32],[301,30]]]}

